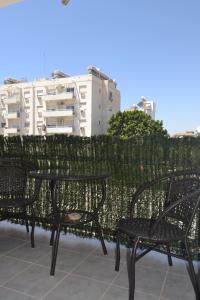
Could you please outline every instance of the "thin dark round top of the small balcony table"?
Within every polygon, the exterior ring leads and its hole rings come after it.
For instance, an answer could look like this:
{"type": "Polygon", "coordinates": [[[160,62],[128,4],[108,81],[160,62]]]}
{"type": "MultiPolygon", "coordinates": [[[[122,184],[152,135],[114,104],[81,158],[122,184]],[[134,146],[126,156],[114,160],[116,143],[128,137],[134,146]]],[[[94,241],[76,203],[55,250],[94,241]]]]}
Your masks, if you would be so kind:
{"type": "Polygon", "coordinates": [[[63,180],[63,181],[92,181],[92,180],[104,180],[108,178],[108,173],[91,174],[80,173],[77,171],[69,172],[69,170],[34,170],[29,172],[30,178],[43,179],[43,180],[63,180]]]}

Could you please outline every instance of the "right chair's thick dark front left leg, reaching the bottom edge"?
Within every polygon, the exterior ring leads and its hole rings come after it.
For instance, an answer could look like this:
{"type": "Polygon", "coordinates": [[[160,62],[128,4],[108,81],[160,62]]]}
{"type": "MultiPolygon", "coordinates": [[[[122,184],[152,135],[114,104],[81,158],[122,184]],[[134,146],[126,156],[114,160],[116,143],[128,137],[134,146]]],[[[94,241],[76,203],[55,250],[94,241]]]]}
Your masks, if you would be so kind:
{"type": "Polygon", "coordinates": [[[135,258],[136,258],[138,242],[139,242],[139,238],[134,240],[131,259],[130,259],[129,300],[134,300],[134,295],[135,295],[135,258]]]}

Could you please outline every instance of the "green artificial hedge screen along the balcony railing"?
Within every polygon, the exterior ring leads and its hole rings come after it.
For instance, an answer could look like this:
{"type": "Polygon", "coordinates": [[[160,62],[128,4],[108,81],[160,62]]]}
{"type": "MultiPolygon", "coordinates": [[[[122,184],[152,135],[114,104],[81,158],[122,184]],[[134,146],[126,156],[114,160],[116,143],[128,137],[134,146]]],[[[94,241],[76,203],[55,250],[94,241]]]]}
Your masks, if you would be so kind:
{"type": "MultiPolygon", "coordinates": [[[[64,169],[73,174],[110,173],[107,201],[100,213],[100,223],[105,237],[113,240],[116,221],[126,216],[131,194],[140,184],[174,170],[200,168],[200,138],[146,136],[122,140],[110,136],[0,137],[0,157],[22,159],[29,169],[64,169]]],[[[89,195],[98,198],[100,190],[98,187],[88,190],[77,183],[63,183],[57,187],[57,194],[61,208],[85,208],[89,195]]],[[[155,197],[155,194],[146,195],[142,215],[154,213],[154,208],[160,205],[155,201],[164,200],[162,194],[158,191],[159,197],[155,197]]],[[[36,206],[41,225],[48,227],[46,217],[51,211],[48,182],[43,182],[36,206]]],[[[199,252],[198,223],[195,222],[191,233],[194,254],[199,252]]],[[[93,236],[95,228],[88,225],[81,231],[77,230],[76,234],[93,236]]],[[[176,245],[174,251],[178,251],[176,245]]]]}

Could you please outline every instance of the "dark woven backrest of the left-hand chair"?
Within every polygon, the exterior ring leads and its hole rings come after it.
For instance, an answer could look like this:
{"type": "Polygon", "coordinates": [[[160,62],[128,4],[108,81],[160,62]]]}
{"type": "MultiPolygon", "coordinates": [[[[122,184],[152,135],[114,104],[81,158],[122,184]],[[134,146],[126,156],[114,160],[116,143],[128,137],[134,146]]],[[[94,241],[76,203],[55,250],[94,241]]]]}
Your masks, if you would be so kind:
{"type": "Polygon", "coordinates": [[[24,195],[26,190],[26,170],[13,164],[0,165],[0,196],[1,198],[24,195]]]}

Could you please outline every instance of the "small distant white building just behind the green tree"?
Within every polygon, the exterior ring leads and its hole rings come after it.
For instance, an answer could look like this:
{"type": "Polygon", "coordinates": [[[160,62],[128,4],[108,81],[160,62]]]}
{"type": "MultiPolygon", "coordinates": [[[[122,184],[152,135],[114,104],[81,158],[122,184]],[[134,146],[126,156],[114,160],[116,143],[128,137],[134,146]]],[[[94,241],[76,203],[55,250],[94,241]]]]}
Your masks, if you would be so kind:
{"type": "Polygon", "coordinates": [[[149,115],[153,120],[155,120],[155,113],[156,113],[156,104],[154,101],[149,101],[145,97],[141,97],[141,101],[135,105],[133,104],[129,109],[126,109],[127,111],[134,111],[134,110],[140,110],[145,112],[147,115],[149,115]]]}

